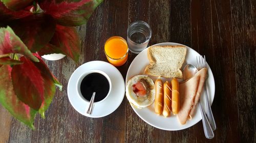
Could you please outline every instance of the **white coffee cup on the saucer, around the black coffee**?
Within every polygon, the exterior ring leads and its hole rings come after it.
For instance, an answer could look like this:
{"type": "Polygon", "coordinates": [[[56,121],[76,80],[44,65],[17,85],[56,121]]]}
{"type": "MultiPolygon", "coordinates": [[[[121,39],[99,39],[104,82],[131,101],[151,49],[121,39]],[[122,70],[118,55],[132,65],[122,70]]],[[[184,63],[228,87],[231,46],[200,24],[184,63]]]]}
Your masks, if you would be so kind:
{"type": "MultiPolygon", "coordinates": [[[[77,82],[76,82],[76,92],[77,92],[77,95],[79,96],[79,98],[80,98],[81,100],[85,101],[85,102],[88,102],[88,103],[89,103],[90,101],[88,101],[86,98],[84,98],[84,97],[82,96],[80,87],[81,87],[81,82],[82,82],[83,78],[86,77],[86,76],[87,76],[88,74],[90,74],[90,73],[100,73],[100,74],[102,74],[106,79],[108,79],[108,81],[109,81],[109,85],[110,85],[109,92],[108,92],[108,94],[106,95],[106,97],[105,97],[104,99],[102,99],[102,100],[100,100],[100,101],[98,101],[98,102],[94,102],[94,104],[98,104],[98,103],[100,103],[100,102],[103,102],[106,98],[108,98],[108,96],[110,95],[110,92],[111,92],[111,90],[112,90],[112,83],[111,83],[111,80],[110,80],[110,77],[108,76],[108,74],[106,74],[105,72],[103,72],[103,71],[101,71],[101,70],[96,70],[96,69],[94,69],[94,70],[89,70],[89,71],[84,72],[84,73],[78,78],[78,80],[77,80],[77,82]]],[[[97,96],[97,93],[95,94],[95,97],[96,97],[96,96],[97,96]]]]}

